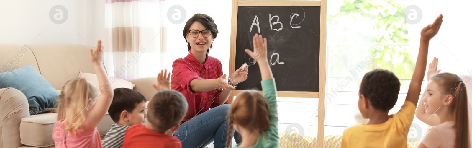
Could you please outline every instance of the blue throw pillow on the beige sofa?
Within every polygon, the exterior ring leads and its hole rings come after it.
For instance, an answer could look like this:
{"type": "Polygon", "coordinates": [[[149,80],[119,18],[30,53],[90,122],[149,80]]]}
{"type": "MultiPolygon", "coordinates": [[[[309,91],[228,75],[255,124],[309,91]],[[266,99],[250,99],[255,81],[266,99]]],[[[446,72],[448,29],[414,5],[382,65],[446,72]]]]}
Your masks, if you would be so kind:
{"type": "Polygon", "coordinates": [[[59,92],[44,79],[33,64],[0,73],[0,88],[13,87],[25,94],[30,115],[41,113],[45,108],[54,108],[59,92]]]}

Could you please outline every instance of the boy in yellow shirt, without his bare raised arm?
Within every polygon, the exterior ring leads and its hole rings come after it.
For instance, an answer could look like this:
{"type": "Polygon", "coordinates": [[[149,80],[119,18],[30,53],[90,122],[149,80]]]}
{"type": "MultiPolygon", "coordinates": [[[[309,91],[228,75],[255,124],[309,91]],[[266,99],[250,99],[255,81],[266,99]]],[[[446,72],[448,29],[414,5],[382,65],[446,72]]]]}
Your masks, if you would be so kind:
{"type": "Polygon", "coordinates": [[[413,122],[415,105],[405,102],[400,111],[390,114],[398,99],[399,79],[388,70],[372,70],[364,75],[359,89],[359,111],[367,124],[345,129],[341,148],[406,147],[406,136],[413,122]],[[375,137],[375,139],[371,139],[375,137]]]}

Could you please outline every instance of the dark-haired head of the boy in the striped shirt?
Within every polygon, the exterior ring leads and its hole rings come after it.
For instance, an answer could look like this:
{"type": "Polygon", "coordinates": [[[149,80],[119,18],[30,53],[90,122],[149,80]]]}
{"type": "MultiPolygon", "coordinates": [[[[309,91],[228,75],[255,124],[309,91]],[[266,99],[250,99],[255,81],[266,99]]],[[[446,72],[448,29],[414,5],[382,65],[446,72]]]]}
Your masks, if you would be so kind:
{"type": "Polygon", "coordinates": [[[116,88],[113,90],[114,96],[111,102],[108,113],[110,114],[113,122],[118,123],[122,121],[122,125],[131,126],[136,123],[145,121],[146,113],[144,107],[146,104],[146,98],[143,94],[129,88],[116,88]],[[142,117],[130,117],[128,121],[123,121],[122,113],[126,111],[126,116],[142,116],[142,117]],[[136,113],[137,112],[137,113],[136,113]]]}

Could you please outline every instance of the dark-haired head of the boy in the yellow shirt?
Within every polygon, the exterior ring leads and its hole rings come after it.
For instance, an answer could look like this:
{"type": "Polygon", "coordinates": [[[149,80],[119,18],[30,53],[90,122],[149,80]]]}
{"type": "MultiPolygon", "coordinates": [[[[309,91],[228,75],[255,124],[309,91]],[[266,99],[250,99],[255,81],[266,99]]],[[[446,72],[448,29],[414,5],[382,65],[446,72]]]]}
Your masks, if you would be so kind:
{"type": "Polygon", "coordinates": [[[382,112],[393,108],[399,92],[400,80],[388,70],[372,70],[366,73],[359,88],[359,95],[363,95],[374,109],[382,112]]]}

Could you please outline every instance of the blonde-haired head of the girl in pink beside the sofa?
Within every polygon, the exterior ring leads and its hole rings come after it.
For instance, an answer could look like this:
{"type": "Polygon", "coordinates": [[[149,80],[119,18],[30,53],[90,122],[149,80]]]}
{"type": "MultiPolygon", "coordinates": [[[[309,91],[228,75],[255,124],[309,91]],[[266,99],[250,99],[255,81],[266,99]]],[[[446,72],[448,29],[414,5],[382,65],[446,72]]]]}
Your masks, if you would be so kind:
{"type": "Polygon", "coordinates": [[[58,98],[58,121],[65,120],[67,129],[75,131],[86,122],[86,108],[98,98],[98,89],[85,78],[68,80],[58,98]],[[66,120],[67,119],[67,120],[66,120]]]}

